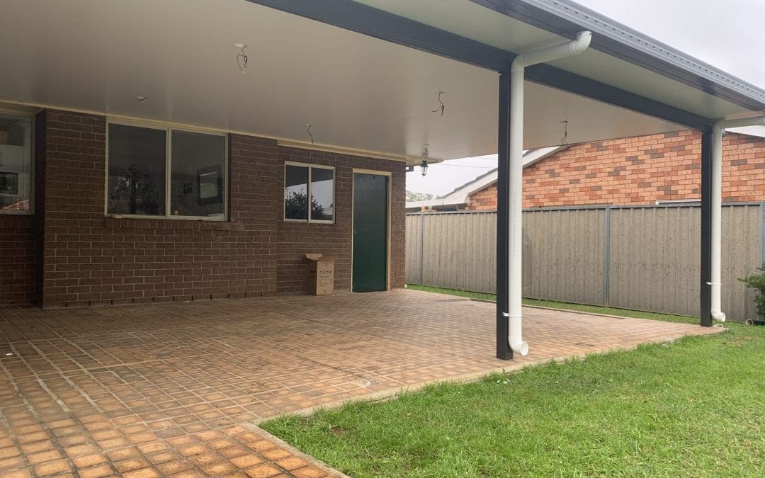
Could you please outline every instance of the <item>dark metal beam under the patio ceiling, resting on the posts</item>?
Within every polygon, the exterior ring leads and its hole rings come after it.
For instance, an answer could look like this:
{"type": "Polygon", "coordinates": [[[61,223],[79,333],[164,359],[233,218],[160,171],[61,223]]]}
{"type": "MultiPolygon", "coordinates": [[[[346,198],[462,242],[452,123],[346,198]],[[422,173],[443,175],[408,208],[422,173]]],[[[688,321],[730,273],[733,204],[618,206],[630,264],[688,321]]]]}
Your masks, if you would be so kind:
{"type": "MultiPolygon", "coordinates": [[[[510,63],[516,57],[509,51],[351,0],[247,1],[499,73],[509,71],[510,63]]],[[[527,68],[526,79],[702,132],[711,131],[714,124],[713,120],[692,112],[548,65],[527,68]]]]}

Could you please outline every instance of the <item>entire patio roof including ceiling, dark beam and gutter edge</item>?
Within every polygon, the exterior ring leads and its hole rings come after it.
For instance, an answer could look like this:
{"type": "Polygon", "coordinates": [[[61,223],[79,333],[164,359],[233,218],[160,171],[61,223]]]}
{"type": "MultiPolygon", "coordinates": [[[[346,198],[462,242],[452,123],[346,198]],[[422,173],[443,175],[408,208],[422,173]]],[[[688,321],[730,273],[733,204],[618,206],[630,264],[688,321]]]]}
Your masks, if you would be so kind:
{"type": "Polygon", "coordinates": [[[761,89],[561,0],[16,0],[0,101],[462,158],[496,152],[497,71],[583,29],[590,50],[527,70],[525,148],[560,145],[564,121],[575,143],[765,111],[761,89]]]}

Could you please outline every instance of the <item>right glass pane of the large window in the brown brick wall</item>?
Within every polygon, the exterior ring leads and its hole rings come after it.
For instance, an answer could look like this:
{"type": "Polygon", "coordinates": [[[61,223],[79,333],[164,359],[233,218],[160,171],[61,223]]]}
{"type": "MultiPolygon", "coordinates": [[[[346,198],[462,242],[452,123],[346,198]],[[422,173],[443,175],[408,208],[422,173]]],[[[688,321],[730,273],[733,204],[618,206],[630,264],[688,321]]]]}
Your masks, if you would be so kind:
{"type": "Polygon", "coordinates": [[[226,137],[174,131],[171,139],[171,215],[223,217],[226,137]]]}

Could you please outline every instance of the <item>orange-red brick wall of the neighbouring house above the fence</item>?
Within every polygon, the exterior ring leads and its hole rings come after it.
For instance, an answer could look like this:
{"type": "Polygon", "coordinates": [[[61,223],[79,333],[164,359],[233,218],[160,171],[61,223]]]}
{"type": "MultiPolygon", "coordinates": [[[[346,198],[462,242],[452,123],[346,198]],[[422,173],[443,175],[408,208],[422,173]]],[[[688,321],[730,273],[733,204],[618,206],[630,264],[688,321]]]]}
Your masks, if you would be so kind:
{"type": "MultiPolygon", "coordinates": [[[[684,131],[573,145],[523,171],[523,206],[648,204],[698,199],[701,137],[684,131]]],[[[723,200],[765,200],[765,138],[723,140],[723,200]]],[[[496,184],[466,209],[495,210],[496,184]]]]}

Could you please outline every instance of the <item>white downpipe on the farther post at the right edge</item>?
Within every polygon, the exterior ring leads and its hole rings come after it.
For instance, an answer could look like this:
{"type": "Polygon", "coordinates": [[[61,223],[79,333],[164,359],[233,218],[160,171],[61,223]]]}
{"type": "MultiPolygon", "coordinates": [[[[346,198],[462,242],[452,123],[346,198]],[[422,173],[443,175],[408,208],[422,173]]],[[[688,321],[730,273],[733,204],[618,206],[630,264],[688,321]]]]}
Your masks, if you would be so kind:
{"type": "Polygon", "coordinates": [[[721,121],[712,127],[712,197],[711,197],[711,316],[725,321],[721,305],[722,288],[722,133],[726,128],[765,125],[765,116],[757,118],[731,119],[721,121]]]}

